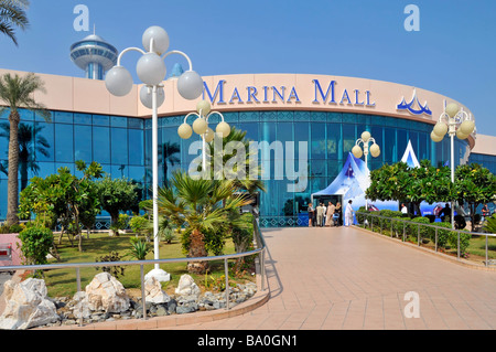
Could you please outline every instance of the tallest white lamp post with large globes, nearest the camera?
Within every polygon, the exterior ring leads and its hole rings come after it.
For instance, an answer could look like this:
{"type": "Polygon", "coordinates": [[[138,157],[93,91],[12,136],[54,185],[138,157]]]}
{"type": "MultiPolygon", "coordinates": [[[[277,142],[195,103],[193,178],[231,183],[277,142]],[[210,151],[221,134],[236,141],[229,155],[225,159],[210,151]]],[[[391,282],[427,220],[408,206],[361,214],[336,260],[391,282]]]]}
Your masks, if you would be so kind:
{"type": "MultiPolygon", "coordinates": [[[[138,60],[136,71],[138,77],[144,85],[140,90],[141,103],[152,109],[152,192],[153,192],[153,253],[154,259],[159,259],[159,152],[158,152],[158,109],[163,104],[165,95],[162,81],[165,78],[166,67],[164,58],[171,54],[180,54],[187,60],[190,70],[184,72],[177,79],[177,92],[188,100],[196,99],[203,92],[203,79],[193,71],[190,57],[180,51],[170,51],[169,34],[160,26],[148,28],[142,35],[144,50],[139,47],[125,49],[117,58],[117,65],[110,68],[105,77],[107,89],[116,96],[125,96],[132,89],[132,76],[127,68],[120,65],[122,55],[130,51],[137,51],[142,54],[138,60]],[[163,54],[163,55],[162,55],[163,54]]],[[[154,265],[153,270],[147,274],[147,277],[155,277],[160,281],[170,280],[170,275],[160,269],[159,264],[154,265]]]]}

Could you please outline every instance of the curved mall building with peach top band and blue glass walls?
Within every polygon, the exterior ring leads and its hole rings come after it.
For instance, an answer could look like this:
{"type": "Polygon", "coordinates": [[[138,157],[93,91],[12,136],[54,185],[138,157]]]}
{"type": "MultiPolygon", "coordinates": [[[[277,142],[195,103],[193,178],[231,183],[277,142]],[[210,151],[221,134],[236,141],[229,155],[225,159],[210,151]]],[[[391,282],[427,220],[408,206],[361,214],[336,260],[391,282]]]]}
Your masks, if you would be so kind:
{"type": "MultiPolygon", "coordinates": [[[[139,100],[141,86],[115,97],[101,81],[40,76],[47,94],[35,98],[52,110],[52,121],[22,110],[21,128],[28,137],[21,146],[28,157],[21,160],[21,188],[33,175],[55,173],[61,166],[75,172],[74,162],[82,159],[99,162],[114,178],[134,180],[142,186],[142,196],[150,198],[152,124],[151,110],[139,100]]],[[[159,109],[159,184],[174,170],[187,170],[201,156],[194,145],[200,137],[193,134],[181,139],[177,127],[195,111],[200,99],[206,99],[231,127],[270,147],[259,152],[259,160],[270,170],[263,180],[267,192],[259,196],[262,226],[306,225],[299,214],[305,212],[313,193],[337,177],[365,130],[381,150],[378,158],[369,156],[370,170],[401,160],[409,141],[419,160],[439,166],[450,162],[449,138],[434,142],[430,134],[444,104],[453,99],[433,92],[364,78],[298,74],[209,76],[204,84],[203,97],[185,100],[176,92],[176,79],[164,82],[165,102],[159,109]],[[290,191],[289,185],[295,183],[300,188],[290,191]]],[[[215,129],[218,121],[213,115],[208,122],[215,129]]],[[[0,127],[6,124],[8,110],[0,116],[0,127]]],[[[475,132],[465,140],[455,138],[455,166],[477,158],[494,162],[495,140],[475,132]],[[475,152],[478,137],[483,137],[484,153],[475,152]]],[[[7,150],[8,139],[0,137],[0,164],[6,167],[7,150]]],[[[0,220],[6,214],[7,173],[0,170],[0,220]]]]}

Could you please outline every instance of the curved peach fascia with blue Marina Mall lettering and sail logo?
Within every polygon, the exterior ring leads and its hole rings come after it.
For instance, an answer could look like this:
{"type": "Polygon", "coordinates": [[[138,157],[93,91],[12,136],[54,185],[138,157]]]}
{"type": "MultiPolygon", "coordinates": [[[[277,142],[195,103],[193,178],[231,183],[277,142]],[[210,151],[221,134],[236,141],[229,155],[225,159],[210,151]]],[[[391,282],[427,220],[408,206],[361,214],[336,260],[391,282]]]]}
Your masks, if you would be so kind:
{"type": "Polygon", "coordinates": [[[203,99],[219,110],[349,110],[430,120],[438,119],[444,104],[454,102],[430,90],[396,83],[293,74],[204,77],[203,99]]]}

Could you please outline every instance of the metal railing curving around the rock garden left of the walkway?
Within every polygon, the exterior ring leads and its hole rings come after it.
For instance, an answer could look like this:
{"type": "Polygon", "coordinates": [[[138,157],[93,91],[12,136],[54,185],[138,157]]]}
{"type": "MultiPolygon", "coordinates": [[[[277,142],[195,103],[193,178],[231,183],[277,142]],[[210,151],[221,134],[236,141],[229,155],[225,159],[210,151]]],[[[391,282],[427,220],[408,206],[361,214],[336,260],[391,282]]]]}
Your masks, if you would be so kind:
{"type": "MultiPolygon", "coordinates": [[[[254,221],[254,244],[255,249],[226,254],[220,256],[211,257],[187,257],[187,258],[168,258],[168,259],[147,259],[147,260],[125,260],[125,262],[98,262],[98,263],[67,263],[67,264],[44,264],[44,265],[19,265],[19,266],[0,266],[0,271],[15,271],[15,270],[45,270],[45,269],[66,269],[74,268],[76,270],[76,285],[77,291],[82,290],[80,287],[80,273],[79,269],[83,267],[106,267],[106,266],[127,266],[127,265],[139,265],[140,266],[140,281],[141,281],[141,305],[143,306],[143,320],[147,320],[147,309],[145,309],[145,295],[144,295],[144,265],[150,264],[171,264],[171,263],[183,263],[183,262],[213,262],[213,260],[224,260],[224,274],[226,277],[226,309],[229,310],[229,275],[228,275],[228,260],[241,257],[248,257],[252,255],[259,256],[260,266],[260,279],[261,279],[261,290],[266,290],[266,268],[265,268],[265,253],[266,253],[266,241],[260,231],[258,222],[254,221]]],[[[83,324],[83,318],[79,319],[79,326],[83,324]]]]}

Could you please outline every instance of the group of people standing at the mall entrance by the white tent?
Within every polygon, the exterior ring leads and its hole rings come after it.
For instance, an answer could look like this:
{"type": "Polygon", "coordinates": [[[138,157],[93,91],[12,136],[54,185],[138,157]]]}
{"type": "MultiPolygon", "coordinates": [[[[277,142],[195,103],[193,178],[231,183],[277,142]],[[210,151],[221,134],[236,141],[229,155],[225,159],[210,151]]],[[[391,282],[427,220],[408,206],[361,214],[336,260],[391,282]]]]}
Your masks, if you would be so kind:
{"type": "MultiPolygon", "coordinates": [[[[346,206],[346,225],[353,223],[353,209],[352,201],[346,206]],[[348,220],[351,215],[351,221],[348,220]]],[[[333,202],[328,202],[327,206],[324,203],[319,203],[316,207],[313,207],[312,203],[309,203],[309,227],[311,226],[343,226],[343,207],[337,202],[336,205],[333,202]]]]}

